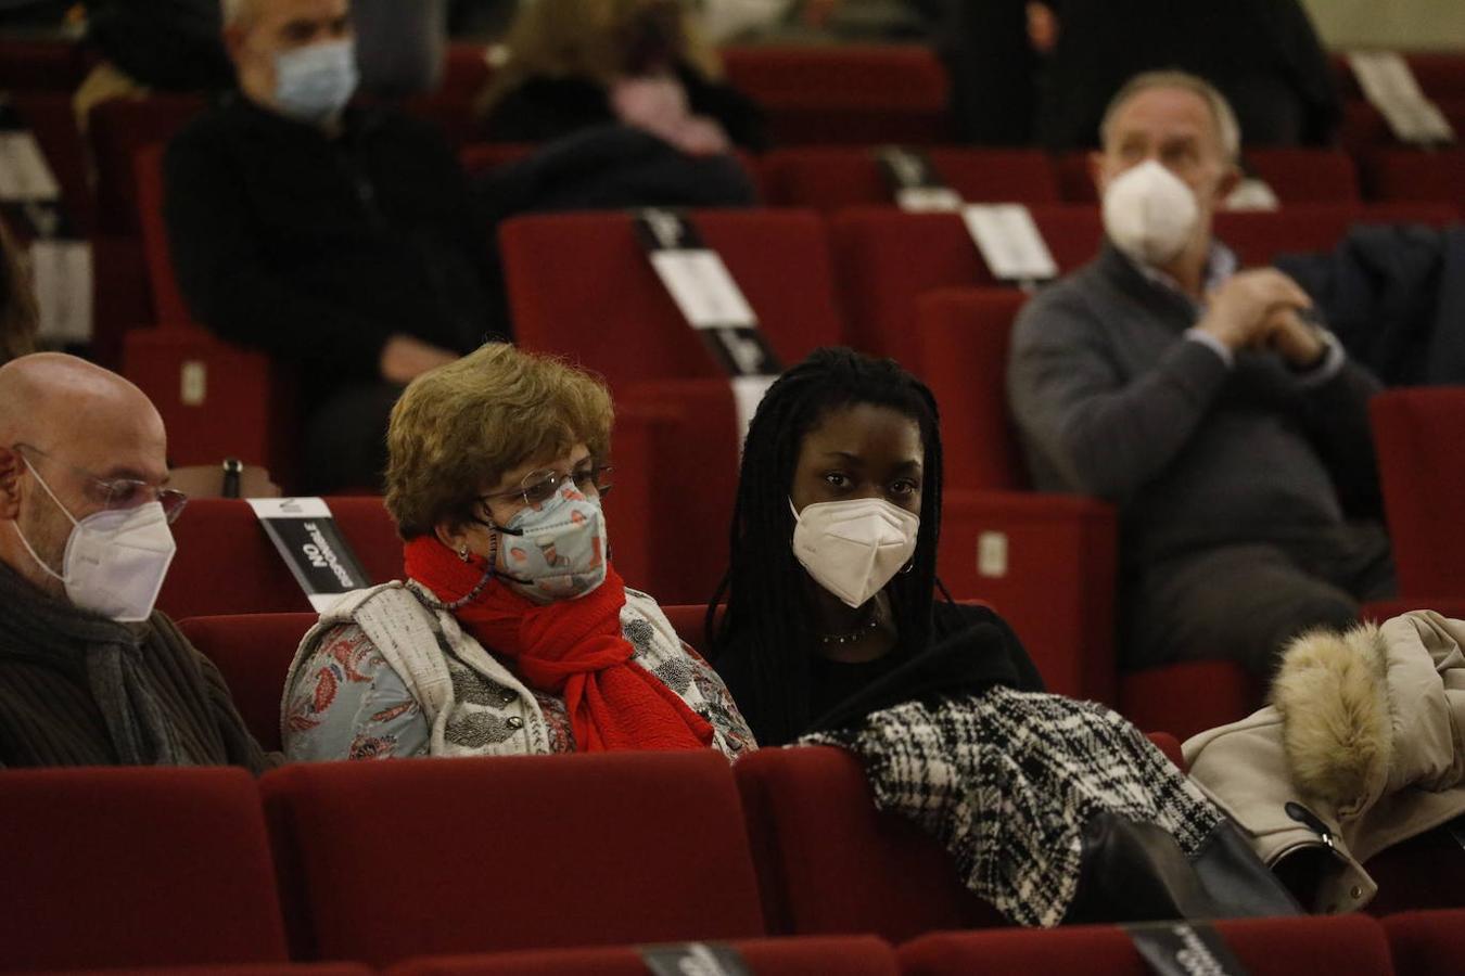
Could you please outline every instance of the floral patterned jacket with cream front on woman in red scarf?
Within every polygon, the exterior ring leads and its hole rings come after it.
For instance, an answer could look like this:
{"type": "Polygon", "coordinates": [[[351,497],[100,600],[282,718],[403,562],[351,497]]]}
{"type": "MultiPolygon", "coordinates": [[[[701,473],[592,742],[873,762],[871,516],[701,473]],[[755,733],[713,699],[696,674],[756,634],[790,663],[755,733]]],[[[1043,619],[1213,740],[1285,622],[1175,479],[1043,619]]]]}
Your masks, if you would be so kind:
{"type": "MultiPolygon", "coordinates": [[[[523,685],[492,651],[435,610],[415,582],[347,594],[305,635],[286,679],[289,761],[573,752],[563,698],[523,685]]],[[[722,679],[681,642],[645,593],[627,587],[631,660],[713,727],[735,759],[756,748],[722,679]]]]}

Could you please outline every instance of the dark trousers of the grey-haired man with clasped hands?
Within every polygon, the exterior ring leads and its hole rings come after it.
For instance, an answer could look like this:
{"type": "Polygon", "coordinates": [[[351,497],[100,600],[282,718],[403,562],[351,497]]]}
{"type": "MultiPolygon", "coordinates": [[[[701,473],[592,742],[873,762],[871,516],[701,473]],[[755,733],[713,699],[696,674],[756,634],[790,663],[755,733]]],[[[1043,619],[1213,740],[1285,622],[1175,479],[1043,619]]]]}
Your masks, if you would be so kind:
{"type": "Polygon", "coordinates": [[[1229,658],[1269,677],[1294,637],[1346,629],[1360,603],[1395,593],[1389,538],[1373,522],[1187,553],[1147,566],[1128,587],[1121,663],[1229,658]]]}

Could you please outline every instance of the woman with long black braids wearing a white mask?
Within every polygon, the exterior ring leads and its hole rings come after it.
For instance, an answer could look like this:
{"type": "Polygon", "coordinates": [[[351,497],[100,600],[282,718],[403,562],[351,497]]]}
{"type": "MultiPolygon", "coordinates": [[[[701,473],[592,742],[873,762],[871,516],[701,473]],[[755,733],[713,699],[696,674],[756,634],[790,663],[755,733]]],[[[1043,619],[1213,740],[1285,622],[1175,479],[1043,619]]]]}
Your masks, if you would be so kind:
{"type": "Polygon", "coordinates": [[[727,615],[709,628],[760,743],[932,682],[1043,688],[992,610],[933,598],[939,531],[941,433],[920,380],[826,348],[772,385],[743,452],[727,615]]]}

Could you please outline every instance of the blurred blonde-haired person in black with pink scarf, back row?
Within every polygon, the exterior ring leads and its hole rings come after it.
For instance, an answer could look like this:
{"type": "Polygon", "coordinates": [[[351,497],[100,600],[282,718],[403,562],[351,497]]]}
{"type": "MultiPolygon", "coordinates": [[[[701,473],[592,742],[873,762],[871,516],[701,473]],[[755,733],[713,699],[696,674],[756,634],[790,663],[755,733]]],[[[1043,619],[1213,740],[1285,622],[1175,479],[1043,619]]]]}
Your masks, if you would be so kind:
{"type": "Polygon", "coordinates": [[[757,105],[721,78],[680,0],[539,0],[504,41],[479,101],[494,142],[549,142],[624,123],[690,155],[766,145],[757,105]]]}

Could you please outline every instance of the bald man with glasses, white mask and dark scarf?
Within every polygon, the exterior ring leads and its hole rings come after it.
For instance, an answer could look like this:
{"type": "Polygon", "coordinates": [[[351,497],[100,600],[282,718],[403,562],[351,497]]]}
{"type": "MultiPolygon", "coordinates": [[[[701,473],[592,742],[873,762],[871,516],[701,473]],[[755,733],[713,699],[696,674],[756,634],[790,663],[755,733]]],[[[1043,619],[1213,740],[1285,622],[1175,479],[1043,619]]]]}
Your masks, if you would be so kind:
{"type": "Polygon", "coordinates": [[[218,670],[152,609],[185,500],[166,457],[116,373],[0,366],[0,765],[265,768],[218,670]]]}

